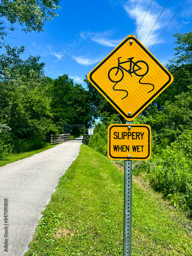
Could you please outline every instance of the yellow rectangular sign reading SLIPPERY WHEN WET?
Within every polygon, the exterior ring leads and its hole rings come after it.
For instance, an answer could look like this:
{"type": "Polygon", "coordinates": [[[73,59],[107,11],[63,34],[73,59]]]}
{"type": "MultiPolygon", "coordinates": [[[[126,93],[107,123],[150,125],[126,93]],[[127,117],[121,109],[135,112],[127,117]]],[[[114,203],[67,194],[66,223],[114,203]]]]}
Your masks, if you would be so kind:
{"type": "Polygon", "coordinates": [[[118,160],[150,159],[151,127],[147,124],[111,124],[108,127],[108,157],[118,160]]]}

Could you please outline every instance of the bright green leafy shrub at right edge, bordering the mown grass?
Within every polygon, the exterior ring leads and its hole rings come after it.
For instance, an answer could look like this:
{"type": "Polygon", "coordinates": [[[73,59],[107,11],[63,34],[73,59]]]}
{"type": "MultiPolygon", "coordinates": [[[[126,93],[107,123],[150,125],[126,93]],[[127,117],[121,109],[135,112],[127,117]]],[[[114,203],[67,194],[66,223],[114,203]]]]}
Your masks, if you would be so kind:
{"type": "Polygon", "coordinates": [[[170,202],[191,215],[192,209],[192,164],[183,151],[173,144],[162,149],[148,161],[136,161],[134,173],[145,177],[152,187],[161,192],[170,202]]]}

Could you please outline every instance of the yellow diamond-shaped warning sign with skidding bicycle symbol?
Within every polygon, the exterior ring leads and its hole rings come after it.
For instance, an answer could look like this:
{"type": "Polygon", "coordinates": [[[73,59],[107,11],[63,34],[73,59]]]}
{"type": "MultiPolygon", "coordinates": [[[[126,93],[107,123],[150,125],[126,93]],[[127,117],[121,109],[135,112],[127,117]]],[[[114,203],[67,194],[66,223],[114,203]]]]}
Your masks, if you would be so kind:
{"type": "Polygon", "coordinates": [[[127,36],[89,74],[88,80],[131,121],[174,78],[133,35],[127,36]]]}

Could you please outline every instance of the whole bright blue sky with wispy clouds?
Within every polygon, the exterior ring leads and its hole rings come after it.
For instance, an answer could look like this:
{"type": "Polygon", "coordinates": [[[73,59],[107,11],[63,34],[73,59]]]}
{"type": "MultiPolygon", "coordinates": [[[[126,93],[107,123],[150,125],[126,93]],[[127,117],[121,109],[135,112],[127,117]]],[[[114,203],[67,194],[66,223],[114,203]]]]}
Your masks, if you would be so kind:
{"type": "MultiPolygon", "coordinates": [[[[82,84],[85,76],[128,35],[136,35],[151,0],[62,0],[59,16],[44,32],[25,33],[19,26],[7,38],[10,46],[25,46],[23,59],[40,55],[45,74],[53,79],[68,74],[82,84]]],[[[153,1],[137,38],[143,43],[167,0],[153,1]]],[[[169,0],[144,46],[151,51],[183,0],[169,0]]],[[[192,28],[192,0],[186,0],[151,53],[165,66],[174,57],[176,38],[192,28]]],[[[1,50],[3,52],[3,50],[1,50]]]]}

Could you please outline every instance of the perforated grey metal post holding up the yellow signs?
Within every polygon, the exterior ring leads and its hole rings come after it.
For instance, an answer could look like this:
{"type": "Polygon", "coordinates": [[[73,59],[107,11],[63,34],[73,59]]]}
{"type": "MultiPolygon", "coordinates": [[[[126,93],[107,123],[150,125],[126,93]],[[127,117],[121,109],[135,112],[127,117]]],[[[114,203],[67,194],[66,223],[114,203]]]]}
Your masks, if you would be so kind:
{"type": "MultiPolygon", "coordinates": [[[[133,121],[126,121],[132,124],[133,121]]],[[[124,161],[123,256],[132,255],[132,175],[133,161],[124,161]]]]}

